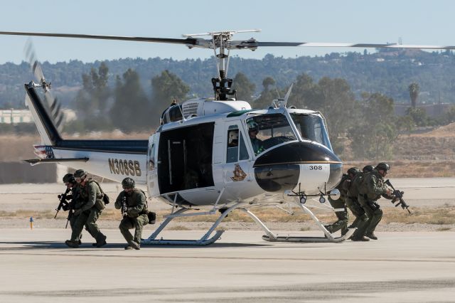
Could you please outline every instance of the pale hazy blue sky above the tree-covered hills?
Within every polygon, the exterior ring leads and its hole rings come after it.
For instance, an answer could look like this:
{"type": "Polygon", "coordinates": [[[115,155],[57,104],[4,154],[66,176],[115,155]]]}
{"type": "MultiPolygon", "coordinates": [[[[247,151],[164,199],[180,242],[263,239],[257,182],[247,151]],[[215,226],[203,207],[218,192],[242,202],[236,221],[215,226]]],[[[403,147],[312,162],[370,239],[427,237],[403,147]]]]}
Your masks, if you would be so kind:
{"type": "MultiPolygon", "coordinates": [[[[1,1],[0,31],[182,38],[182,33],[260,28],[257,41],[455,45],[455,1],[1,1]]],[[[0,36],[0,63],[24,60],[26,37],[0,36]]],[[[129,41],[34,37],[38,59],[92,62],[116,58],[208,58],[213,50],[129,41]]],[[[262,58],[352,49],[262,48],[233,55],[262,58]]],[[[363,49],[357,49],[363,51],[363,49]]],[[[373,49],[369,50],[373,52],[373,49]]]]}

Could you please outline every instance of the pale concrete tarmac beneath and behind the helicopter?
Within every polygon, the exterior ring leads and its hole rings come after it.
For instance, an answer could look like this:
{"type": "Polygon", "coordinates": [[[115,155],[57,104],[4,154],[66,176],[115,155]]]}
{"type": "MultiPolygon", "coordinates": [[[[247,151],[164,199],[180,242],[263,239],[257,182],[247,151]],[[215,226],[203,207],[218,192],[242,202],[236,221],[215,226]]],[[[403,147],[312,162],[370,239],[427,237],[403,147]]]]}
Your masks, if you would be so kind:
{"type": "MultiPolygon", "coordinates": [[[[395,183],[412,206],[454,204],[454,179],[395,183]]],[[[53,185],[37,188],[44,191],[0,186],[0,206],[55,207],[53,185]]],[[[141,250],[124,250],[117,229],[103,232],[104,247],[92,248],[84,232],[84,243],[73,249],[63,243],[64,228],[0,228],[0,302],[455,302],[452,231],[380,232],[367,243],[268,243],[260,231],[228,230],[209,246],[141,250]]]]}

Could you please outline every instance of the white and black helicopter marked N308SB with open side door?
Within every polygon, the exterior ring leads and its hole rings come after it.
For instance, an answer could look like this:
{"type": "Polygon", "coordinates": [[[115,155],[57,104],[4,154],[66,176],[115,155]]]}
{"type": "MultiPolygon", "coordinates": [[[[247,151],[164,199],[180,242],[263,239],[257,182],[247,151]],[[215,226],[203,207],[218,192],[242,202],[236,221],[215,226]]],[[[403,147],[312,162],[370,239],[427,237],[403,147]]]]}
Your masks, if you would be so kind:
{"type": "MultiPolygon", "coordinates": [[[[60,136],[63,117],[33,50],[29,62],[38,83],[24,85],[26,103],[41,136],[35,145],[38,159],[32,165],[58,163],[85,169],[113,181],[131,177],[146,186],[150,198],[171,206],[161,225],[142,244],[208,245],[223,234],[215,230],[236,209],[257,223],[270,242],[342,242],[352,235],[336,237],[328,232],[307,201],[340,196],[336,189],[343,174],[343,163],[333,152],[327,124],[321,112],[287,107],[291,87],[282,99],[271,100],[267,109],[252,109],[237,100],[232,79],[227,78],[230,50],[256,50],[259,47],[354,47],[354,48],[437,48],[454,46],[412,46],[370,43],[259,42],[255,38],[232,40],[237,33],[218,31],[183,35],[184,38],[94,36],[68,33],[5,32],[2,35],[89,38],[120,41],[183,44],[188,48],[208,48],[215,52],[218,75],[211,79],[213,97],[173,103],[161,115],[160,126],[148,140],[83,140],[60,136]],[[208,36],[209,38],[200,38],[208,36]],[[217,52],[218,51],[218,52],[217,52]],[[42,88],[45,101],[37,90],[42,88]],[[323,231],[324,237],[278,236],[252,213],[254,206],[291,203],[307,213],[323,231]],[[162,230],[174,218],[207,216],[218,219],[200,239],[165,240],[162,230]]],[[[317,201],[316,201],[317,202],[317,201]]],[[[331,208],[331,206],[326,206],[331,208]]],[[[331,208],[332,211],[336,211],[331,208]]],[[[286,211],[286,210],[284,210],[286,211]]]]}

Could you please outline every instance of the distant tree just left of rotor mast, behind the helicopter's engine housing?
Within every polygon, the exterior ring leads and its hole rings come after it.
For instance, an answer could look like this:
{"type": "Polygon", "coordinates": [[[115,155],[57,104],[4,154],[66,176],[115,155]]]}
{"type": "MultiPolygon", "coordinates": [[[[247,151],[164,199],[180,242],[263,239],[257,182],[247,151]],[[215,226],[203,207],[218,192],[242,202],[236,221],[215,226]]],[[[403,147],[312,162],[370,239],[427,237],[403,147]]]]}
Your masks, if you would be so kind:
{"type": "Polygon", "coordinates": [[[171,105],[173,100],[185,101],[189,91],[190,87],[168,70],[164,70],[160,75],[152,78],[151,92],[155,124],[159,123],[161,113],[171,105]]]}

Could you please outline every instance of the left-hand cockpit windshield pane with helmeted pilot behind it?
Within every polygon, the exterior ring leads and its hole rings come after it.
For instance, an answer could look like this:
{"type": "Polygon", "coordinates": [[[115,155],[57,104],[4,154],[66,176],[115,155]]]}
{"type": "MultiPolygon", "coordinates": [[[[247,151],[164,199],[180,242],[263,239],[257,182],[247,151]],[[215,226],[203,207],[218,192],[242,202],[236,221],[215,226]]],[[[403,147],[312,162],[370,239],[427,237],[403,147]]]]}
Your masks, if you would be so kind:
{"type": "Polygon", "coordinates": [[[283,142],[296,140],[287,117],[282,114],[257,115],[248,118],[246,122],[255,154],[283,142]]]}

